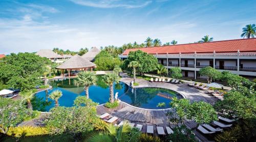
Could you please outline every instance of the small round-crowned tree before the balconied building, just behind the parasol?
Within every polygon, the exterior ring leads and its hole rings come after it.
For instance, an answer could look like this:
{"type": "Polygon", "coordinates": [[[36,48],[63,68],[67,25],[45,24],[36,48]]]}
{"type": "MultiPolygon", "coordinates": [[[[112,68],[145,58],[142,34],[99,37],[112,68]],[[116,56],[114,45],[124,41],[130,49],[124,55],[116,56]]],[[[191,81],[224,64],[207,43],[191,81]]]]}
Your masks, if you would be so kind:
{"type": "Polygon", "coordinates": [[[199,74],[202,76],[206,76],[208,83],[211,83],[212,80],[219,79],[221,76],[221,73],[217,69],[212,68],[211,66],[201,68],[199,70],[199,74]]]}

